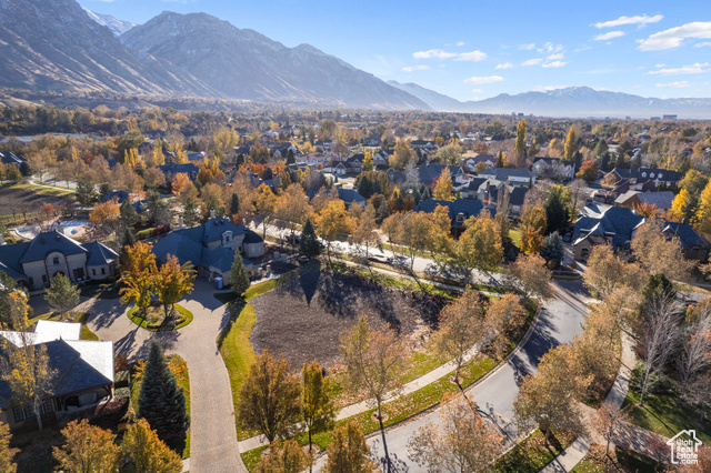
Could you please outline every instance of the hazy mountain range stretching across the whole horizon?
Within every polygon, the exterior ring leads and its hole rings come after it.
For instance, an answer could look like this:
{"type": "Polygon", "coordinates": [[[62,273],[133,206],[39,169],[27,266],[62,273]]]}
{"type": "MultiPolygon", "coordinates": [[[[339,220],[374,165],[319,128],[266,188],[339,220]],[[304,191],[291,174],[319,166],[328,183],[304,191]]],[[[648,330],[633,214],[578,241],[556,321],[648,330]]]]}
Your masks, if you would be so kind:
{"type": "Polygon", "coordinates": [[[575,87],[459,101],[384,82],[310,44],[288,48],[206,13],[136,26],[76,0],[0,0],[0,88],[92,97],[202,98],[301,107],[553,117],[711,118],[711,99],[647,99],[575,87]]]}

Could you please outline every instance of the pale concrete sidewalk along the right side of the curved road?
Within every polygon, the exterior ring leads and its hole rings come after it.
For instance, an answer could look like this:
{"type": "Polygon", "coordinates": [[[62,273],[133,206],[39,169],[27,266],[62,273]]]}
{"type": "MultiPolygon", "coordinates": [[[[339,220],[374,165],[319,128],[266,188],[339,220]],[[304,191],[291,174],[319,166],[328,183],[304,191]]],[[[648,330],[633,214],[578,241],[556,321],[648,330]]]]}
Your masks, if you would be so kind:
{"type": "MultiPolygon", "coordinates": [[[[612,384],[612,388],[610,389],[610,392],[608,393],[608,396],[602,404],[603,406],[614,409],[615,411],[620,410],[629,390],[630,375],[632,374],[633,366],[633,341],[627,332],[622,332],[622,355],[620,360],[620,370],[618,371],[614,383],[612,384]]],[[[581,409],[583,411],[583,415],[588,420],[587,424],[590,425],[591,417],[595,414],[597,411],[584,404],[581,404],[581,409]]],[[[602,440],[602,436],[598,432],[591,430],[587,434],[578,436],[578,439],[575,439],[575,441],[568,446],[568,449],[565,449],[552,462],[545,465],[545,467],[541,470],[541,473],[558,473],[571,471],[588,454],[588,452],[590,451],[590,445],[592,443],[600,443],[604,445],[605,442],[604,440],[602,440]]]]}

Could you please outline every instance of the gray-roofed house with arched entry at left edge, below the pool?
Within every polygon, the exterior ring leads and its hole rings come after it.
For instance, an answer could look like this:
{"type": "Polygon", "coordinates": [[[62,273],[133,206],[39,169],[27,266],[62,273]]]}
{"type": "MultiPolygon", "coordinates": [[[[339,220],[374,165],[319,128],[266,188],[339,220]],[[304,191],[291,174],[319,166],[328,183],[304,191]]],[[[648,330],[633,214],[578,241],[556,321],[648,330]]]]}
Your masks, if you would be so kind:
{"type": "Polygon", "coordinates": [[[30,290],[49,286],[57,273],[72,282],[106,280],[118,254],[99,242],[80,243],[60,232],[43,232],[29,242],[0,245],[0,271],[30,290]]]}

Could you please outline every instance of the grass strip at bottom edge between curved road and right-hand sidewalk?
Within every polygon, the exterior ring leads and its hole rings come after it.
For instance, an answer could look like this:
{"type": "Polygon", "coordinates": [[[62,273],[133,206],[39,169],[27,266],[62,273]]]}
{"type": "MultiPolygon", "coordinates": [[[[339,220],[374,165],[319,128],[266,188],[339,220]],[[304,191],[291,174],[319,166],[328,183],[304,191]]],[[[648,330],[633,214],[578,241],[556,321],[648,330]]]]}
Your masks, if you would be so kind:
{"type": "Polygon", "coordinates": [[[571,435],[554,435],[552,446],[544,445],[545,436],[539,430],[529,435],[523,442],[511,449],[497,460],[492,466],[494,472],[538,473],[555,456],[565,450],[573,441],[571,435]]]}

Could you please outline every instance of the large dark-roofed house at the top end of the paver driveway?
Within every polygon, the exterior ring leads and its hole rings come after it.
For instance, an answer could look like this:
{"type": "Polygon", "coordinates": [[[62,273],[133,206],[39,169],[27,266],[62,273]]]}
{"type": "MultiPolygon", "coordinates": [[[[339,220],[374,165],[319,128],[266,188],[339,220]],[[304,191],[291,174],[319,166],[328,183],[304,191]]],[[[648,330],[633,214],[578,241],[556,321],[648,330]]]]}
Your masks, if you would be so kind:
{"type": "Polygon", "coordinates": [[[236,225],[227,218],[212,217],[202,225],[168,233],[153,245],[152,251],[161,264],[172,254],[180,264],[190,262],[199,275],[210,281],[223,278],[229,282],[234,252],[243,253],[244,265],[253,269],[249,258],[264,254],[264,241],[244,225],[236,225]]]}

